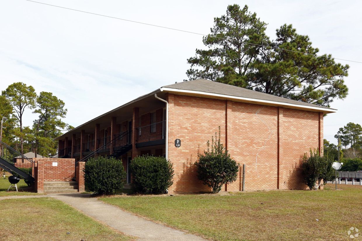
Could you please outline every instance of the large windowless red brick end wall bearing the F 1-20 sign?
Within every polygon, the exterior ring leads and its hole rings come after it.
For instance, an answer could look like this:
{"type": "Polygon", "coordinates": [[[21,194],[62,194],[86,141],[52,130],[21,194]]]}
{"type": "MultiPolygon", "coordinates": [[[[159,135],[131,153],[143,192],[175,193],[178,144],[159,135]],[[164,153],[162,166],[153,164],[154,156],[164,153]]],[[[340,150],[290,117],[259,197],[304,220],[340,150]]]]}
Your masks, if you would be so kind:
{"type": "Polygon", "coordinates": [[[168,159],[175,170],[169,191],[209,191],[193,163],[221,126],[221,141],[241,164],[236,182],[223,190],[304,189],[300,157],[323,145],[323,114],[194,96],[168,95],[168,159]],[[181,147],[174,146],[181,139],[181,147]],[[322,143],[322,144],[321,144],[322,143]]]}

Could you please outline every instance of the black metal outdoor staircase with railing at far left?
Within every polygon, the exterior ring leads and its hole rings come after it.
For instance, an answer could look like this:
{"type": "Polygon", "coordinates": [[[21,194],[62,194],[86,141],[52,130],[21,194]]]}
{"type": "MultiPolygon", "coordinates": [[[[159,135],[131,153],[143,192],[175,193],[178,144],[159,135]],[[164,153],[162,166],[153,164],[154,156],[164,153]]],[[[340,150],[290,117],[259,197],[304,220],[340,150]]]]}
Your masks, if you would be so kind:
{"type": "Polygon", "coordinates": [[[32,173],[26,173],[20,169],[31,168],[31,170],[34,171],[33,160],[26,158],[24,155],[20,154],[20,152],[14,150],[2,141],[0,142],[0,167],[7,172],[14,172],[30,182],[35,181],[32,173]],[[20,159],[21,162],[16,162],[17,159],[20,159]]]}

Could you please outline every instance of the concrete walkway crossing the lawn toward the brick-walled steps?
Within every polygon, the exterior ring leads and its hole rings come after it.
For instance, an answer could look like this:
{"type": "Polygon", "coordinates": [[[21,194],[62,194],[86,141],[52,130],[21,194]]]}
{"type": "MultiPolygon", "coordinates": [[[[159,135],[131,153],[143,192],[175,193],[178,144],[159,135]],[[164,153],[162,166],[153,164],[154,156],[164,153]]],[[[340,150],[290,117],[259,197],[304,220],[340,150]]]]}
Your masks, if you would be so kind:
{"type": "Polygon", "coordinates": [[[139,238],[138,240],[205,240],[196,235],[140,218],[117,207],[98,201],[97,198],[90,197],[90,194],[48,193],[47,196],[63,201],[112,228],[139,238]]]}

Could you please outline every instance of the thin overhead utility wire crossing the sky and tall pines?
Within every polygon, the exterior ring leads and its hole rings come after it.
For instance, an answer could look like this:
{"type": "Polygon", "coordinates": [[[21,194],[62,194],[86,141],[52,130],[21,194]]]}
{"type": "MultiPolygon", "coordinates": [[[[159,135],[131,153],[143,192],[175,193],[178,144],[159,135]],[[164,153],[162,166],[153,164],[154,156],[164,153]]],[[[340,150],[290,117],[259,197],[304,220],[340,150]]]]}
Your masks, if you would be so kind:
{"type": "MultiPolygon", "coordinates": [[[[195,33],[195,32],[186,31],[186,30],[181,30],[181,29],[173,29],[173,28],[171,28],[171,27],[164,27],[164,26],[154,25],[154,24],[150,24],[150,23],[132,21],[132,20],[124,19],[124,18],[117,18],[117,17],[112,17],[112,16],[103,15],[103,14],[98,14],[98,13],[91,13],[91,12],[86,12],[86,11],[82,11],[82,10],[77,10],[77,9],[72,9],[72,8],[61,7],[61,6],[52,5],[52,4],[47,4],[47,3],[41,3],[41,2],[32,1],[32,0],[26,0],[26,1],[33,2],[33,3],[39,3],[39,4],[44,4],[44,5],[49,5],[49,6],[57,7],[57,8],[64,8],[64,9],[73,10],[73,11],[82,12],[82,13],[94,14],[94,15],[98,15],[98,16],[102,16],[102,17],[114,18],[114,19],[118,19],[118,20],[123,20],[123,21],[128,21],[128,22],[134,22],[134,23],[140,23],[140,24],[144,24],[144,25],[148,25],[148,26],[153,26],[153,27],[161,27],[161,28],[163,28],[163,29],[170,29],[170,30],[175,30],[175,31],[184,32],[184,33],[190,33],[190,34],[197,34],[197,35],[202,35],[202,36],[208,36],[207,34],[200,34],[200,33],[195,33]]],[[[244,43],[244,44],[251,44],[251,45],[260,46],[260,47],[274,48],[275,50],[284,50],[284,51],[295,52],[295,53],[303,53],[303,52],[294,51],[294,50],[286,50],[286,49],[283,49],[283,48],[265,46],[265,45],[262,45],[262,44],[255,44],[255,43],[248,43],[248,42],[244,42],[244,41],[237,41],[237,40],[230,39],[230,38],[220,38],[220,37],[214,37],[214,38],[224,39],[224,40],[228,40],[228,41],[235,41],[235,42],[244,43]]],[[[338,59],[338,58],[333,58],[333,57],[328,57],[328,56],[323,56],[323,55],[315,55],[315,54],[312,54],[312,53],[303,53],[303,54],[305,54],[305,55],[317,56],[317,57],[324,57],[324,58],[328,58],[328,59],[337,59],[337,60],[349,61],[349,62],[354,62],[354,63],[360,63],[360,64],[362,64],[362,62],[354,61],[354,60],[338,59]]]]}

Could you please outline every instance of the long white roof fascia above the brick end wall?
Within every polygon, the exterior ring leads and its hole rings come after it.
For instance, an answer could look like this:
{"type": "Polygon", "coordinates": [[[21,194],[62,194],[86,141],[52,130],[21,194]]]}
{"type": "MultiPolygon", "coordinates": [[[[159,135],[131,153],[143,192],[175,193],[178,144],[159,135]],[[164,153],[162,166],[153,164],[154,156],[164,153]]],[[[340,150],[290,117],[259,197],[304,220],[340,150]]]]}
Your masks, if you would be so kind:
{"type": "Polygon", "coordinates": [[[291,104],[291,103],[286,103],[286,102],[278,102],[278,101],[273,101],[273,100],[254,99],[254,98],[248,98],[248,97],[216,94],[216,93],[197,91],[197,90],[182,90],[182,89],[161,87],[160,91],[171,91],[171,92],[180,92],[180,93],[190,93],[190,94],[217,96],[217,97],[226,98],[226,99],[237,99],[237,100],[253,101],[253,102],[259,102],[259,103],[268,103],[268,104],[273,104],[273,105],[283,105],[283,106],[290,106],[290,107],[299,107],[299,108],[304,108],[304,109],[314,109],[314,110],[321,111],[321,112],[328,111],[329,113],[337,112],[336,109],[331,109],[331,108],[327,109],[327,108],[324,108],[324,107],[319,107],[317,105],[316,105],[316,107],[311,107],[311,106],[304,106],[304,105],[299,105],[299,104],[291,104]]]}

